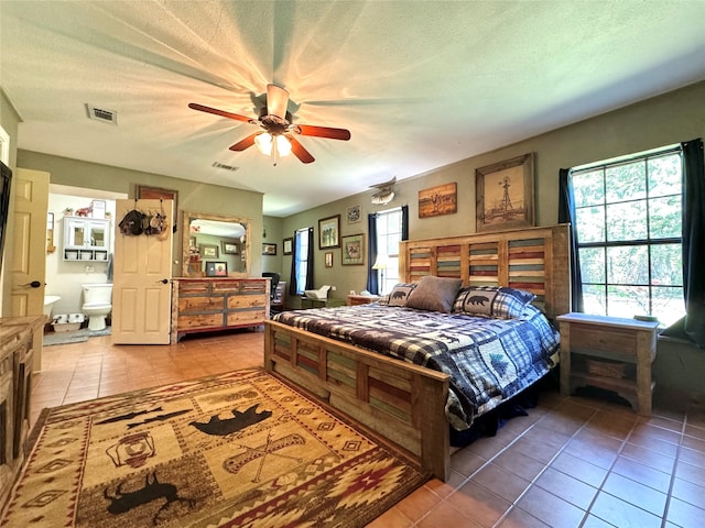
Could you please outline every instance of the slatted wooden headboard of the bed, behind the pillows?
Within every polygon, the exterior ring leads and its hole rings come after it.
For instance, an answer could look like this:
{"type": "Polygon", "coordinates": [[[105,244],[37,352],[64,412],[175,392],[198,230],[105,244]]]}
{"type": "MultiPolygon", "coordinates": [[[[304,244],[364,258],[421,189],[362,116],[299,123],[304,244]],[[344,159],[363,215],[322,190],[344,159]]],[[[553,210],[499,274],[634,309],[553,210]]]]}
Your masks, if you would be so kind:
{"type": "Polygon", "coordinates": [[[401,282],[424,275],[463,279],[464,286],[509,286],[536,295],[550,319],[571,311],[568,224],[408,240],[399,246],[401,282]]]}

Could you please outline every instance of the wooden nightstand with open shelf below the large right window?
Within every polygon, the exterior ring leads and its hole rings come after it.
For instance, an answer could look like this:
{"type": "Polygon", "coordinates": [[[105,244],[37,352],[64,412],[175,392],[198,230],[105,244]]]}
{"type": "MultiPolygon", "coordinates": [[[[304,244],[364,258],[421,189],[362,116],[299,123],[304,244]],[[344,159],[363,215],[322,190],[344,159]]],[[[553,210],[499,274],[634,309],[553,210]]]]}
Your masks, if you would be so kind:
{"type": "Polygon", "coordinates": [[[651,363],[658,322],[565,314],[561,324],[561,392],[590,385],[614,391],[639,415],[651,416],[651,363]],[[634,372],[636,365],[636,372],[634,372]]]}

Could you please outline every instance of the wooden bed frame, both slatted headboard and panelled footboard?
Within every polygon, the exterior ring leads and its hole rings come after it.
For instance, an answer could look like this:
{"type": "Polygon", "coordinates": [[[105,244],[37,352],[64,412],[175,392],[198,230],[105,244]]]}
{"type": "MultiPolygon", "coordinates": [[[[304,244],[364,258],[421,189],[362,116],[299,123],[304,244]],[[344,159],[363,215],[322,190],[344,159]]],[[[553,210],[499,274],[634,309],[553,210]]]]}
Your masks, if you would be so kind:
{"type": "MultiPolygon", "coordinates": [[[[568,227],[404,241],[400,282],[425,275],[536,294],[550,319],[571,311],[568,227]]],[[[264,324],[264,369],[393,442],[436,477],[447,476],[448,376],[340,341],[264,324]]]]}

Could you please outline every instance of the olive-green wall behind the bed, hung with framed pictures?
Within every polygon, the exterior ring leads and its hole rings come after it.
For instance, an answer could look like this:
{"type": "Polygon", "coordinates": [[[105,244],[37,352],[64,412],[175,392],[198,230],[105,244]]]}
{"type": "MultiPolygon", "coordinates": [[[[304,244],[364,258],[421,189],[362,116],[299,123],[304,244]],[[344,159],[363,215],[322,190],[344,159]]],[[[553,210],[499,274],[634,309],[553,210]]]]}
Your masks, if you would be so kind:
{"type": "MultiPolygon", "coordinates": [[[[558,169],[608,160],[626,154],[705,136],[705,82],[665,94],[585,121],[564,127],[535,138],[507,145],[497,151],[469,157],[458,163],[404,179],[397,184],[394,200],[388,206],[372,206],[372,191],[350,196],[284,219],[283,237],[296,229],[314,227],[318,237],[318,220],[340,215],[341,235],[365,233],[371,212],[409,206],[409,235],[412,240],[474,233],[475,169],[522,154],[535,154],[534,208],[538,226],[551,226],[558,216],[558,169]],[[419,218],[419,191],[437,185],[457,183],[457,212],[432,218],[419,218]],[[346,209],[360,205],[362,220],[346,222],[346,209]]],[[[367,243],[367,242],[366,242],[367,243]]],[[[367,283],[365,266],[340,265],[340,250],[334,250],[334,265],[324,266],[324,253],[314,252],[315,287],[332,284],[333,297],[344,298],[350,290],[361,290],[367,283]]],[[[289,276],[291,257],[282,258],[282,271],[289,276]]]]}

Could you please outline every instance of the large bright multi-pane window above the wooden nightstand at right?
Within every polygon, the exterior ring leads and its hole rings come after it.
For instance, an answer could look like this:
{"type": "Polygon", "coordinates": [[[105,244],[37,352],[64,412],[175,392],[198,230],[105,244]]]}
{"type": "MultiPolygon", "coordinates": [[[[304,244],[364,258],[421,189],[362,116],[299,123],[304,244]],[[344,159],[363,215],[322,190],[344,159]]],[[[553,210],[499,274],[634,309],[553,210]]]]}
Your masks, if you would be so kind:
{"type": "Polygon", "coordinates": [[[587,314],[683,317],[681,148],[571,172],[587,314]]]}

